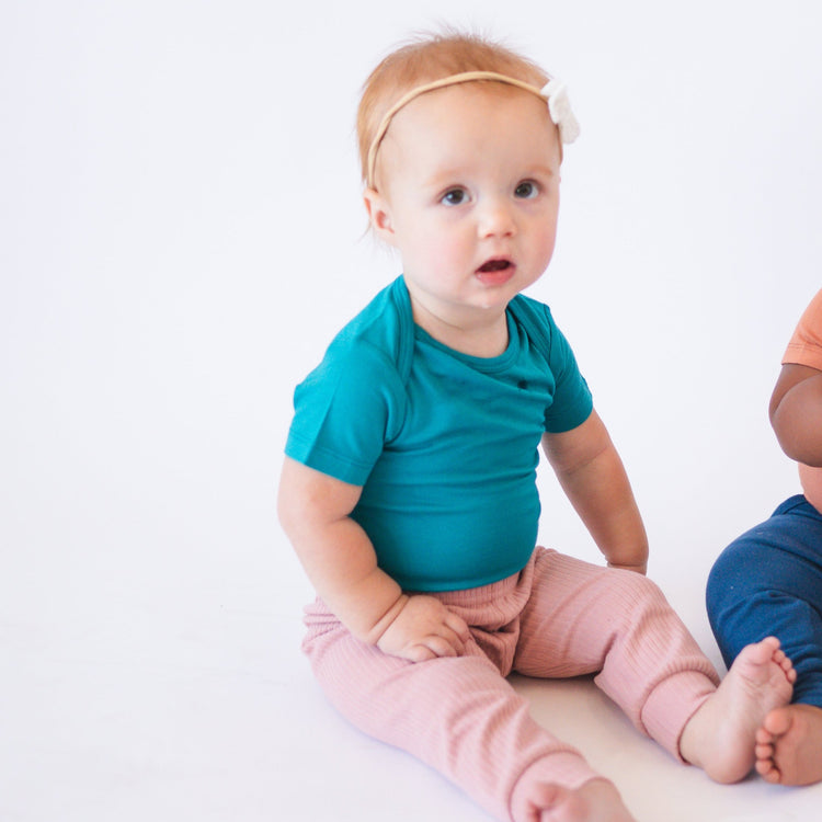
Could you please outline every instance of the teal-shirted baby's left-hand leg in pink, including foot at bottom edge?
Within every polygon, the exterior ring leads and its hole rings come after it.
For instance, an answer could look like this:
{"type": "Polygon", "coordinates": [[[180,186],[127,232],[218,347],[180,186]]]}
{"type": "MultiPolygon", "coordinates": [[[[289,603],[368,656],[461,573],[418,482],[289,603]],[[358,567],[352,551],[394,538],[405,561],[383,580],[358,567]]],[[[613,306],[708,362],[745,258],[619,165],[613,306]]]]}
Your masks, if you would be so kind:
{"type": "Polygon", "coordinates": [[[335,707],[439,770],[498,819],[630,820],[609,783],[584,790],[602,781],[598,775],[530,718],[526,700],[476,644],[466,657],[410,663],[353,639],[320,606],[307,621],[304,647],[335,707]],[[600,813],[607,796],[613,817],[600,813]]]}

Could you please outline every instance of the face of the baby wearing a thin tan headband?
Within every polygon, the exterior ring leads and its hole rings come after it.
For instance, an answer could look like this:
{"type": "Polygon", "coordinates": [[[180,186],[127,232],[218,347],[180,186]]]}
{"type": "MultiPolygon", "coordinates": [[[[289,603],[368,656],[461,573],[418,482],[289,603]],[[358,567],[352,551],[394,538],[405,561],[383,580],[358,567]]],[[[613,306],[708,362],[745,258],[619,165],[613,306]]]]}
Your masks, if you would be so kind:
{"type": "Polygon", "coordinates": [[[456,321],[504,309],[550,262],[560,145],[547,104],[469,82],[402,109],[380,146],[369,213],[412,300],[456,321]]]}

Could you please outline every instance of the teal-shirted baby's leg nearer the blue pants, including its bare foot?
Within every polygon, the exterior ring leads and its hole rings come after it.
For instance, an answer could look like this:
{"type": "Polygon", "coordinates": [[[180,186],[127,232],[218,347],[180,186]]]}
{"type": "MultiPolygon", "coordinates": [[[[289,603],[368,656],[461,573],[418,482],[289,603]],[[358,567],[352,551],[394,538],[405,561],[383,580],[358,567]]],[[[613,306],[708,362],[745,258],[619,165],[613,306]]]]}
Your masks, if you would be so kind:
{"type": "Polygon", "coordinates": [[[777,642],[747,651],[717,692],[719,677],[650,580],[547,551],[537,561],[534,592],[523,617],[518,671],[600,671],[603,690],[671,753],[723,781],[750,772],[756,728],[790,698],[790,662],[777,642]],[[697,716],[705,721],[694,722],[697,716]],[[704,755],[713,741],[722,744],[704,755]]]}

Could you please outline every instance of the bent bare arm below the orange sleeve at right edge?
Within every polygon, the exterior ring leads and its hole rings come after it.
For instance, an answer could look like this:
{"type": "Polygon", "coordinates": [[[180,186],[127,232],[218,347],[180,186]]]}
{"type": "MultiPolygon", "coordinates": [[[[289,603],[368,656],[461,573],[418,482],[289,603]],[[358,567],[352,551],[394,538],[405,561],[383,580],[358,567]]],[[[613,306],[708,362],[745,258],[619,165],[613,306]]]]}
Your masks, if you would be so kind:
{"type": "Polygon", "coordinates": [[[770,398],[770,424],[783,450],[798,463],[822,466],[822,372],[783,366],[770,398]]]}

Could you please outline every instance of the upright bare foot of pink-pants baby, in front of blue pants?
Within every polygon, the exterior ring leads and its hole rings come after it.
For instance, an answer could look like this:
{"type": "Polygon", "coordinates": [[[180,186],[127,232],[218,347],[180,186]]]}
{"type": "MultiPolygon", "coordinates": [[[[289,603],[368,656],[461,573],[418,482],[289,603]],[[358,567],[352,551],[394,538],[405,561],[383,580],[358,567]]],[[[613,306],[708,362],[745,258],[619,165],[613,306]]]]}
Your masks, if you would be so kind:
{"type": "Polygon", "coordinates": [[[728,675],[685,726],[680,752],[718,783],[743,779],[754,766],[757,729],[790,701],[797,674],[768,637],[743,648],[728,675]]]}

